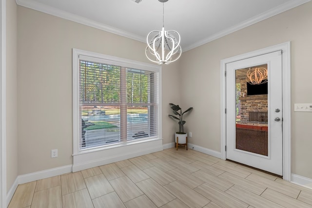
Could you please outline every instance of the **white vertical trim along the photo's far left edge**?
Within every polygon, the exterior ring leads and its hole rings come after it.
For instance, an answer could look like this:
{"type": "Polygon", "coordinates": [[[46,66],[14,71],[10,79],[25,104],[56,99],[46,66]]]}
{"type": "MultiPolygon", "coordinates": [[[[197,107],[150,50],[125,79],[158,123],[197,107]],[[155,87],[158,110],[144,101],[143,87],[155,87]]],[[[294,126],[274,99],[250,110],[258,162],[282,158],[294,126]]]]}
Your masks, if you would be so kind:
{"type": "Polygon", "coordinates": [[[6,202],[6,0],[0,2],[0,207],[6,202]]]}

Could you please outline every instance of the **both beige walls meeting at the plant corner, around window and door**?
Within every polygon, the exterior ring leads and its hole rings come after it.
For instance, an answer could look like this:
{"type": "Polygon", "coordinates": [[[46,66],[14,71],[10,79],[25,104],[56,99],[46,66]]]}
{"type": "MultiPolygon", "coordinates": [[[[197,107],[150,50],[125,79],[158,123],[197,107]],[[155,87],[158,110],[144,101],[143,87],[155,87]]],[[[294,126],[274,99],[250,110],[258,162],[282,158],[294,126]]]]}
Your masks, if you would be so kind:
{"type": "MultiPolygon", "coordinates": [[[[167,116],[173,102],[194,107],[185,117],[189,142],[220,151],[220,60],[291,41],[292,173],[312,178],[312,113],[293,112],[293,103],[312,102],[311,11],[306,3],[163,66],[163,144],[177,128],[167,116]]],[[[144,43],[18,6],[19,175],[72,164],[72,48],[148,62],[144,43]],[[51,149],[59,149],[58,158],[50,158],[51,149]]]]}

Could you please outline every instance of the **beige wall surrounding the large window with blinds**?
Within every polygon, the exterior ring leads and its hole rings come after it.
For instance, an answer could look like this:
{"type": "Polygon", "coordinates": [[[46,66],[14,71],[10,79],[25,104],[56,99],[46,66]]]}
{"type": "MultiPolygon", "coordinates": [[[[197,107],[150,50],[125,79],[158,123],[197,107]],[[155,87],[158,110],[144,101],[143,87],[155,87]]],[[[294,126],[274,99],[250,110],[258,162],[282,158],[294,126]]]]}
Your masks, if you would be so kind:
{"type": "MultiPolygon", "coordinates": [[[[72,48],[150,63],[145,47],[18,6],[19,175],[73,163],[72,48]],[[52,149],[59,150],[59,157],[50,158],[52,149]]],[[[162,70],[164,144],[174,139],[167,108],[180,101],[177,70],[177,63],[162,70]]]]}

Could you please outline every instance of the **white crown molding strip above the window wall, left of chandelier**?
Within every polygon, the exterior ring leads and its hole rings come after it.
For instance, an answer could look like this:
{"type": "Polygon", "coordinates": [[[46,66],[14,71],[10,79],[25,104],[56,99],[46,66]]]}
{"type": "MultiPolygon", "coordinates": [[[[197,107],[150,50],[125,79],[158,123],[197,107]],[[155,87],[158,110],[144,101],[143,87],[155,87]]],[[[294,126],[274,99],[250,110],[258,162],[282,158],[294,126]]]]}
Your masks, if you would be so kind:
{"type": "Polygon", "coordinates": [[[129,33],[127,31],[123,31],[123,30],[119,30],[117,28],[111,27],[109,25],[91,20],[91,19],[87,19],[78,15],[74,15],[72,13],[69,12],[65,12],[63,10],[48,6],[46,4],[43,3],[39,3],[37,1],[34,0],[16,0],[16,3],[20,6],[26,7],[26,8],[30,8],[30,9],[34,9],[37,10],[39,12],[43,12],[49,15],[53,15],[62,19],[67,19],[70,21],[74,21],[80,24],[84,24],[90,27],[94,27],[100,30],[104,30],[106,32],[110,32],[119,36],[123,36],[126,38],[131,38],[131,39],[135,39],[141,42],[145,42],[146,39],[140,36],[137,36],[133,33],[129,33]]]}

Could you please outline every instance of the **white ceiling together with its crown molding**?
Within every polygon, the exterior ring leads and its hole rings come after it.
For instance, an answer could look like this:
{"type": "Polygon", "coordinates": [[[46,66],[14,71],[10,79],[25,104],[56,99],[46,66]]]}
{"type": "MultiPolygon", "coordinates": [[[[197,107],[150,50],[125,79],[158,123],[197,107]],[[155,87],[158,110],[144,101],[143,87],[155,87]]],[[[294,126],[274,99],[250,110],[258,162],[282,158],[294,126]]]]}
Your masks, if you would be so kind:
{"type": "MultiPolygon", "coordinates": [[[[162,28],[158,0],[16,0],[21,6],[142,42],[162,28]]],[[[168,0],[165,30],[176,30],[183,51],[220,38],[310,0],[168,0]]]]}

